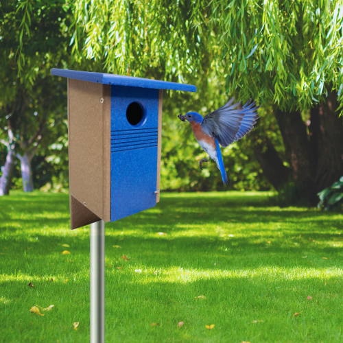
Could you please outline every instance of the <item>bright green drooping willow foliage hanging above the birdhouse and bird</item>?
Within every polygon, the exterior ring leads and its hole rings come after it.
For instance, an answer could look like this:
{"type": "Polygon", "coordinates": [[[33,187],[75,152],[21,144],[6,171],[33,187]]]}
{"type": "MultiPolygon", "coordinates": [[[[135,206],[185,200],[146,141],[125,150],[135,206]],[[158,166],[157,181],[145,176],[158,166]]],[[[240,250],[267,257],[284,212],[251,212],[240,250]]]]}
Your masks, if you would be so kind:
{"type": "Polygon", "coordinates": [[[333,88],[342,104],[342,0],[76,0],[73,8],[75,54],[107,71],[156,69],[189,81],[211,68],[240,99],[310,108],[333,88]]]}

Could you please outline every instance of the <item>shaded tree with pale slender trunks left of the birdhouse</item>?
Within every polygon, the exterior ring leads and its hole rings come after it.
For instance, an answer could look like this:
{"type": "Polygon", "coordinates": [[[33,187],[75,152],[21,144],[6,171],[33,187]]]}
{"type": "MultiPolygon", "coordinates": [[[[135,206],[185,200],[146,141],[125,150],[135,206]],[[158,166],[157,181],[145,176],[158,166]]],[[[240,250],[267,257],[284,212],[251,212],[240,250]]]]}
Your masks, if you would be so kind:
{"type": "Polygon", "coordinates": [[[0,123],[7,132],[0,142],[8,148],[0,195],[10,189],[15,156],[21,161],[24,191],[34,189],[32,158],[63,123],[66,87],[57,87],[50,69],[65,67],[69,60],[68,11],[67,3],[57,0],[0,7],[0,123]]]}

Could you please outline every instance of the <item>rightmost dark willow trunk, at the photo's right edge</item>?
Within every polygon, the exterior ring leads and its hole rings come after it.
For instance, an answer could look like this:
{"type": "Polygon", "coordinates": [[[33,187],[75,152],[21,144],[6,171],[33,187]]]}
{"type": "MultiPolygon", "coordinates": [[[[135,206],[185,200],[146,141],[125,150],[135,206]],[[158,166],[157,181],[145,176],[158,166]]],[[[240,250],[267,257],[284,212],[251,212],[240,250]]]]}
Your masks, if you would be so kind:
{"type": "Polygon", "coordinates": [[[343,176],[343,122],[335,112],[338,106],[337,93],[331,92],[325,103],[311,108],[309,133],[317,193],[343,176]]]}

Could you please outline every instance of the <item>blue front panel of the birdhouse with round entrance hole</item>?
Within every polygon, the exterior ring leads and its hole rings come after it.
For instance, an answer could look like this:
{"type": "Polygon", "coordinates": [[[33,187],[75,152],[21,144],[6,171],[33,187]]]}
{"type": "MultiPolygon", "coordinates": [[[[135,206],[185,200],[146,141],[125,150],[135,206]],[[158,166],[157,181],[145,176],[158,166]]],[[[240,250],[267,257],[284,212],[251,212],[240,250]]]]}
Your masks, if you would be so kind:
{"type": "Polygon", "coordinates": [[[111,86],[111,222],[156,205],[158,89],[111,86]],[[136,126],[126,117],[143,109],[136,126]]]}

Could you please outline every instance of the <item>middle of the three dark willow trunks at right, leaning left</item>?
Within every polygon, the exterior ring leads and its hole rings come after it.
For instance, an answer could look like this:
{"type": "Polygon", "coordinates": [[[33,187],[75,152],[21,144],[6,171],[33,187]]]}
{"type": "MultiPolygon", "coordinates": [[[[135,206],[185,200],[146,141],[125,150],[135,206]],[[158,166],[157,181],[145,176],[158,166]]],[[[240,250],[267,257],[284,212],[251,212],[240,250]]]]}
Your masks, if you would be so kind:
{"type": "Polygon", "coordinates": [[[279,123],[287,161],[296,181],[300,193],[303,194],[311,205],[318,202],[315,182],[315,170],[311,145],[307,137],[307,130],[299,110],[286,113],[277,108],[274,115],[279,123]]]}

